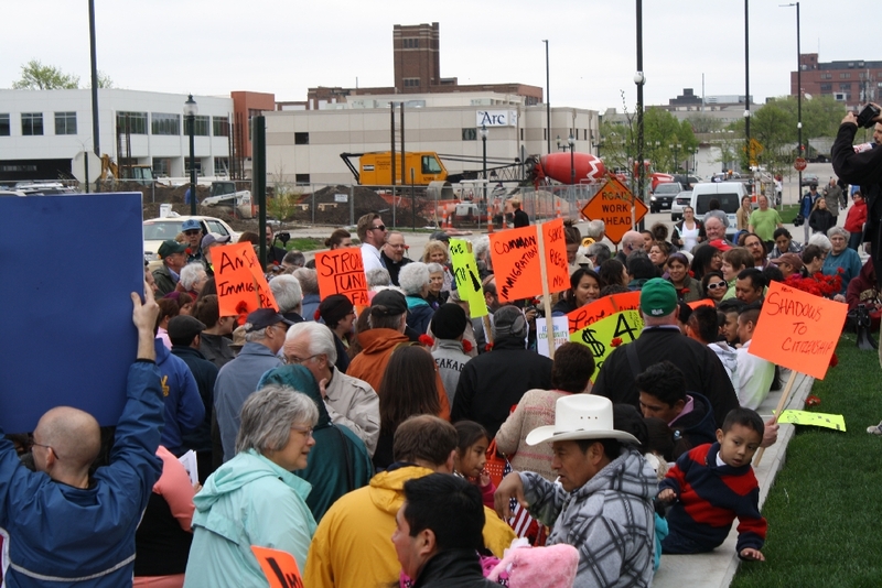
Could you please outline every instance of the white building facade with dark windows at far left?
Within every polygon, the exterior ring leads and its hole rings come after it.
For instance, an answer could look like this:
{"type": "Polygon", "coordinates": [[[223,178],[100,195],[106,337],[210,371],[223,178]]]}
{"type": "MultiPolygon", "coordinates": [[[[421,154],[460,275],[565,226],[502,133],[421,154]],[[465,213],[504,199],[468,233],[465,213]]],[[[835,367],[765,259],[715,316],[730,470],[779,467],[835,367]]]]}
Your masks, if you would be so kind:
{"type": "MultiPolygon", "coordinates": [[[[150,165],[158,176],[185,176],[186,99],[185,94],[99,89],[100,153],[118,164],[150,165]]],[[[194,100],[196,170],[223,175],[229,167],[233,99],[194,100]]],[[[90,89],[0,90],[0,182],[69,177],[72,160],[93,151],[92,121],[90,89]]]]}

